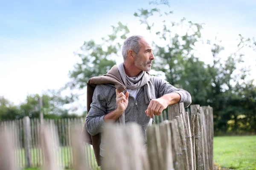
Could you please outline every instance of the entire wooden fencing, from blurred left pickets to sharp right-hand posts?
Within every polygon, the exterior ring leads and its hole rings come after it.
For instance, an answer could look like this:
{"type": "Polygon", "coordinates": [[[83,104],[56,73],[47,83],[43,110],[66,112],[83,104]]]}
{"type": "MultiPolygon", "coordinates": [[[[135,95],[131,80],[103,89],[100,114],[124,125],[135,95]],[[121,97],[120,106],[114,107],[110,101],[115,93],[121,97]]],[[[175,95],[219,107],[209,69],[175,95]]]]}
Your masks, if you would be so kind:
{"type": "MultiPolygon", "coordinates": [[[[190,110],[180,103],[154,116],[147,147],[138,125],[106,125],[104,170],[213,170],[212,108],[191,105],[190,110]]],[[[84,119],[58,119],[44,120],[42,126],[29,117],[0,122],[0,164],[9,164],[3,170],[100,169],[92,146],[81,142],[83,124],[84,119]],[[6,156],[6,150],[12,152],[6,156]]]]}

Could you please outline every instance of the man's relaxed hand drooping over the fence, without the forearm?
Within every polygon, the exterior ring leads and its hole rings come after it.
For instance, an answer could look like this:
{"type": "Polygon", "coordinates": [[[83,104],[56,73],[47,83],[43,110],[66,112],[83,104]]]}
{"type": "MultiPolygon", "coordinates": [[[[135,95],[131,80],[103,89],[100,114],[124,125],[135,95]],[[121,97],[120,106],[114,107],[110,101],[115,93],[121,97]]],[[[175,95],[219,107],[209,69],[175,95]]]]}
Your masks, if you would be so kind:
{"type": "Polygon", "coordinates": [[[159,116],[163,112],[163,110],[167,108],[167,106],[168,101],[163,98],[152,99],[145,113],[147,113],[147,116],[150,116],[150,118],[153,118],[153,115],[159,116]]]}

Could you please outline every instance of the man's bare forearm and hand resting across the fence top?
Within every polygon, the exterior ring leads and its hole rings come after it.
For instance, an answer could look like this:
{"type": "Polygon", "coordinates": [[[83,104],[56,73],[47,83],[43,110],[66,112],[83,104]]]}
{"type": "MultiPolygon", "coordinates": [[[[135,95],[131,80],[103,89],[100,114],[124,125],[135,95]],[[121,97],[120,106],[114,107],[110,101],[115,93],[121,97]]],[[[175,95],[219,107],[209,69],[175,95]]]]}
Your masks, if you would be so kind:
{"type": "Polygon", "coordinates": [[[151,100],[145,113],[147,113],[147,116],[150,116],[150,118],[153,118],[153,115],[159,116],[169,105],[173,105],[178,102],[180,102],[180,94],[165,94],[158,99],[151,100]]]}

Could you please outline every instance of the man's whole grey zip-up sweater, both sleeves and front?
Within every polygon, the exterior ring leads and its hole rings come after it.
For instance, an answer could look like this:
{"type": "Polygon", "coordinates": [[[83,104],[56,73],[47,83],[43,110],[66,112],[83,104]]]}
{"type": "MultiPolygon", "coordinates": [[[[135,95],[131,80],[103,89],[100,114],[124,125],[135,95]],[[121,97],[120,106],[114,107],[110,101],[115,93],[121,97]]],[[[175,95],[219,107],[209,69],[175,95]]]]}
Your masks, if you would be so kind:
{"type": "MultiPolygon", "coordinates": [[[[189,92],[175,88],[169,82],[158,77],[151,76],[150,81],[154,85],[155,96],[160,98],[164,94],[178,93],[181,96],[180,102],[184,102],[185,108],[191,104],[191,95],[189,92]]],[[[135,101],[133,96],[128,98],[128,106],[125,110],[125,123],[136,122],[141,126],[143,137],[146,140],[146,128],[151,125],[151,119],[145,113],[148,104],[145,102],[144,90],[140,88],[135,101]]],[[[102,132],[102,127],[105,124],[104,116],[116,109],[116,91],[115,87],[110,84],[99,84],[93,93],[93,102],[90,105],[90,111],[86,116],[87,130],[91,135],[96,135],[102,132]]],[[[146,142],[146,141],[145,141],[146,142]]],[[[103,155],[103,141],[100,144],[100,155],[103,155]]]]}

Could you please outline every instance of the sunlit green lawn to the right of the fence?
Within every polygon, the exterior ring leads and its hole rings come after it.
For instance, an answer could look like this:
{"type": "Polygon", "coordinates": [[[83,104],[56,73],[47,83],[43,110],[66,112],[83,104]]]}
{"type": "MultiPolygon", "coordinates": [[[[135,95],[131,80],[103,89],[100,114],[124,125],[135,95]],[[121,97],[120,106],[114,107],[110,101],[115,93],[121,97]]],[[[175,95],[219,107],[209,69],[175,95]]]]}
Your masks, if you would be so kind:
{"type": "Polygon", "coordinates": [[[256,170],[256,136],[219,136],[213,141],[214,161],[220,167],[256,170]]]}

